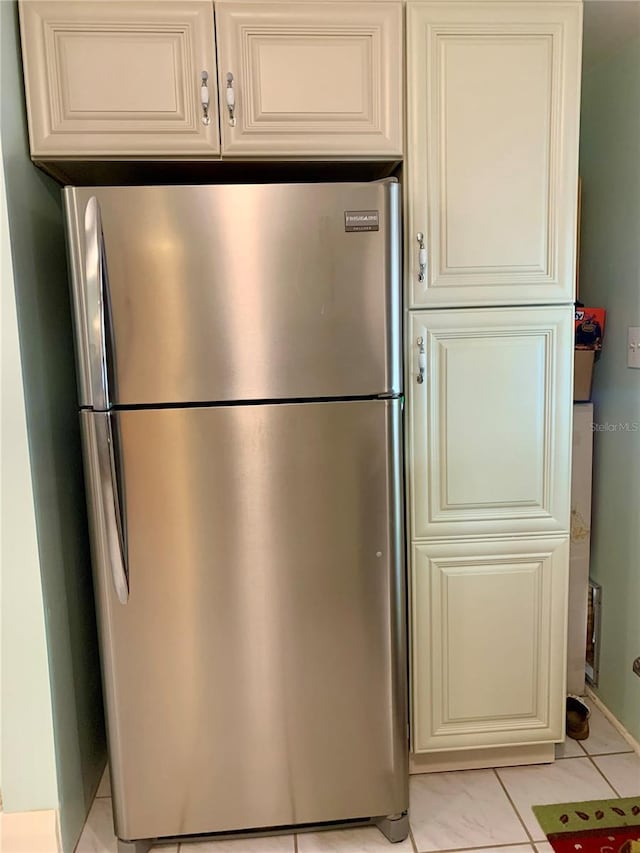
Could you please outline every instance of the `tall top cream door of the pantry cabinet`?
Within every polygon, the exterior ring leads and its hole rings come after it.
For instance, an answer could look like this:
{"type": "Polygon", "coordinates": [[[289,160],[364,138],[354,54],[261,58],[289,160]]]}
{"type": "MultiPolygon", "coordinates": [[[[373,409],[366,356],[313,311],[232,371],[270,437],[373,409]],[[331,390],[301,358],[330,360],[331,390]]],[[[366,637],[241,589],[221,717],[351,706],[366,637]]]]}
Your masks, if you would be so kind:
{"type": "Polygon", "coordinates": [[[412,305],[573,298],[581,33],[576,0],[407,3],[412,305]]]}

